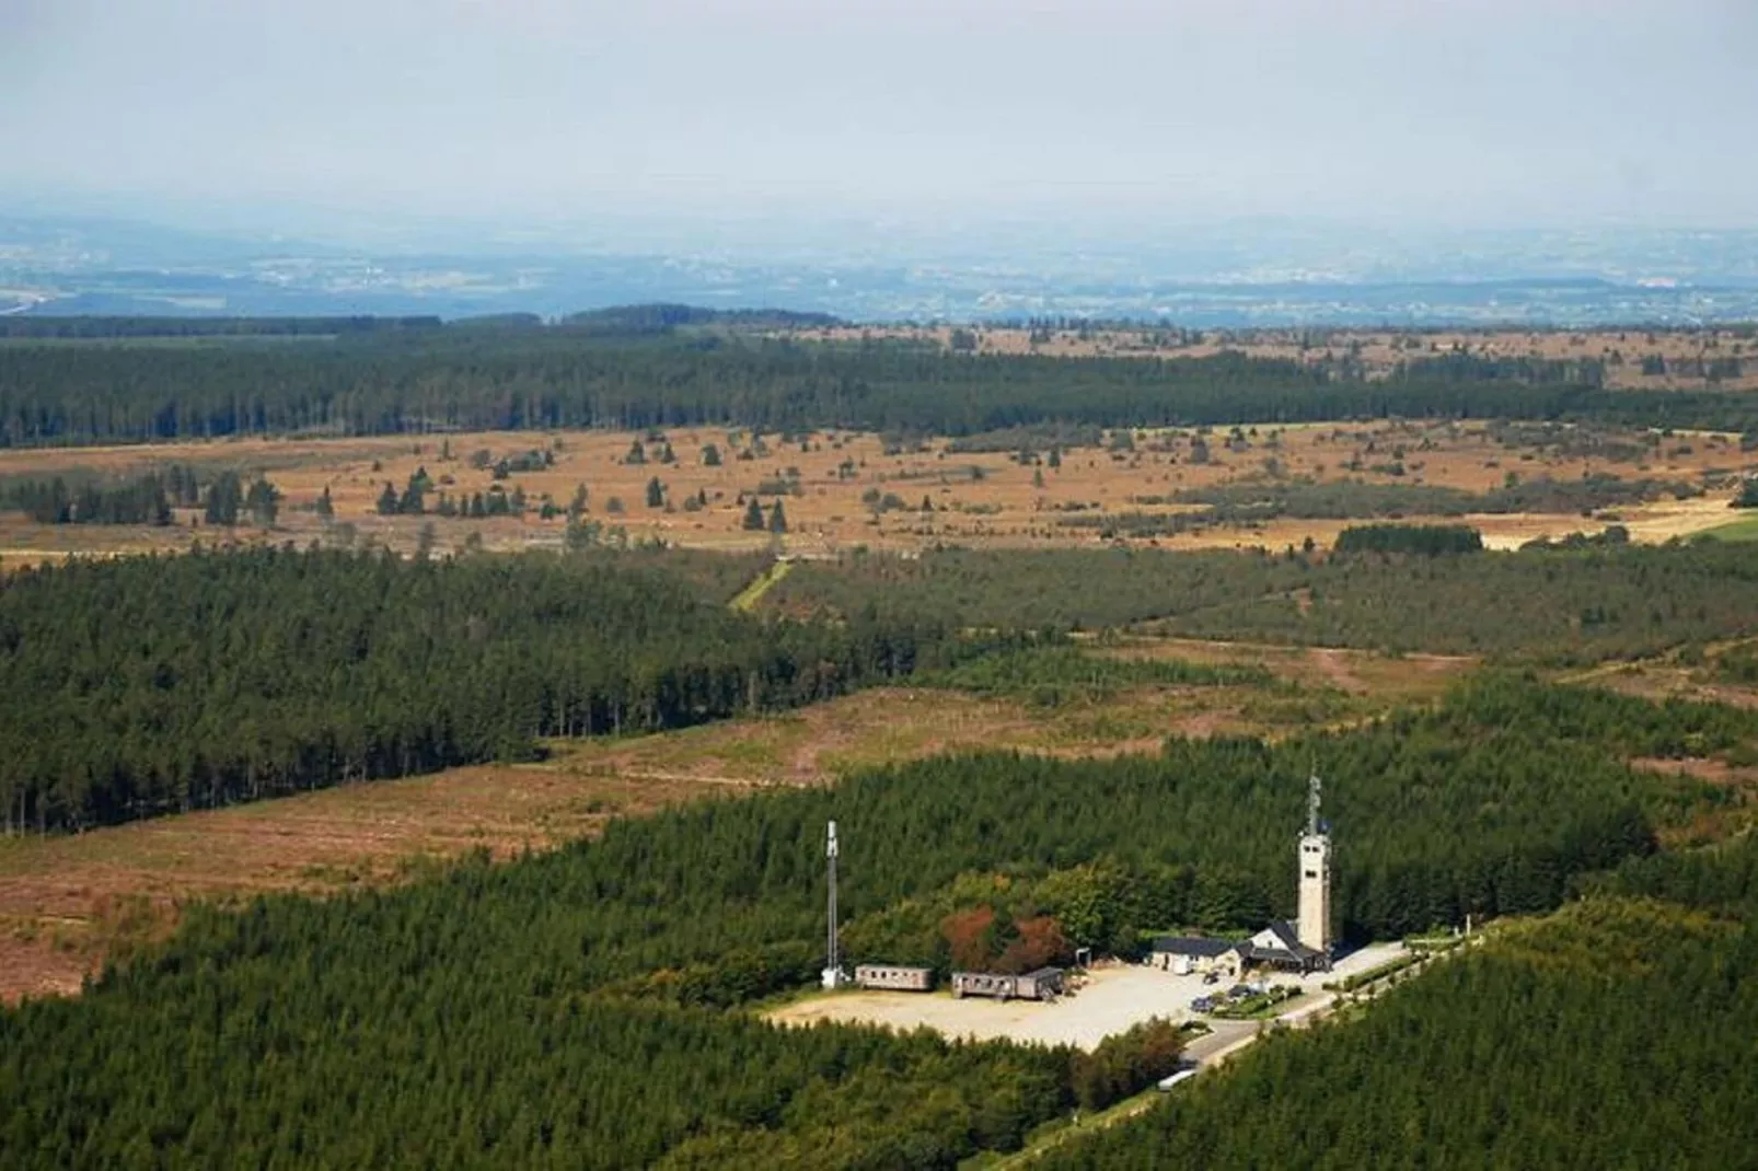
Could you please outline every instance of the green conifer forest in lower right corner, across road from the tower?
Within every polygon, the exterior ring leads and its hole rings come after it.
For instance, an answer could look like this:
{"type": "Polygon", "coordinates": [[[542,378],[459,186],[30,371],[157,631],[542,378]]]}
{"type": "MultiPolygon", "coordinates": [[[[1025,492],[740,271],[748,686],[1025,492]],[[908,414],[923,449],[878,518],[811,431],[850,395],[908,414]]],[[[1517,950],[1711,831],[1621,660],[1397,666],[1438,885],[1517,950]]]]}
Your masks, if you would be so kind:
{"type": "Polygon", "coordinates": [[[1037,1166],[1751,1166],[1754,877],[1751,837],[1626,867],[1359,1020],[1273,1036],[1037,1166]]]}

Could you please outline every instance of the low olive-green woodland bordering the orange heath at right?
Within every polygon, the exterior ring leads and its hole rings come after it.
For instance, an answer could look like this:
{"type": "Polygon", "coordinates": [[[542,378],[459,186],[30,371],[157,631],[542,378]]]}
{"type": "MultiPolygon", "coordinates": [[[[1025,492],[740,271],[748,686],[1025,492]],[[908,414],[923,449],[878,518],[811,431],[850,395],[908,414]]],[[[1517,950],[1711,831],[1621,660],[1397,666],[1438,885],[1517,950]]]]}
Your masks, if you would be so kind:
{"type": "MultiPolygon", "coordinates": [[[[1464,535],[1443,536],[1452,543],[1464,535]]],[[[946,550],[800,564],[765,603],[791,614],[935,615],[960,626],[1155,622],[1202,638],[1570,665],[1758,633],[1754,586],[1758,547],[1716,542],[1447,557],[946,550]]]]}

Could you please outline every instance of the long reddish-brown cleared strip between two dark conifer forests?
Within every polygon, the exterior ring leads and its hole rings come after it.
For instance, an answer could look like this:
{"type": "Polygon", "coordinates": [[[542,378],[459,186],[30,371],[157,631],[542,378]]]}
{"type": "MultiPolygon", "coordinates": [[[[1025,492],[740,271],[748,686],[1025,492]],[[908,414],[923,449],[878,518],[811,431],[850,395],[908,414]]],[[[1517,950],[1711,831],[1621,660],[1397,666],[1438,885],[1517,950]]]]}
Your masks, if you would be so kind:
{"type": "Polygon", "coordinates": [[[1166,735],[1278,735],[1435,695],[1466,659],[1382,659],[1134,640],[1116,654],[1262,663],[1294,693],[1166,687],[1039,709],[888,687],[798,712],[650,737],[552,744],[534,765],[480,765],[322,789],[63,837],[0,839],[0,1002],[77,992],[105,955],[167,932],[179,902],[396,883],[473,849],[512,856],[594,835],[614,816],[731,796],[933,753],[1151,751],[1166,735]]]}

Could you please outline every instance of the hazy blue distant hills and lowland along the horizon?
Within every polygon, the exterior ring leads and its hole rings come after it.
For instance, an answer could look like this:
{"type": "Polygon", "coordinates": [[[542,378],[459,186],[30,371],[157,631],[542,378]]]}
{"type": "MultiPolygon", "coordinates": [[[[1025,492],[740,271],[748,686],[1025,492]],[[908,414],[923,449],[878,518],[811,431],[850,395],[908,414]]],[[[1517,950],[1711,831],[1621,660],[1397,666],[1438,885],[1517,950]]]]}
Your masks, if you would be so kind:
{"type": "Polygon", "coordinates": [[[1410,243],[1320,229],[1164,229],[1141,239],[1116,230],[1102,244],[1050,230],[916,234],[788,255],[719,246],[703,229],[698,251],[635,253],[564,237],[345,246],[0,211],[0,320],[299,316],[432,327],[468,318],[482,329],[559,320],[608,332],[832,318],[1058,316],[1199,329],[1758,320],[1758,232],[1482,232],[1410,243]],[[749,309],[777,304],[793,313],[749,309]],[[731,316],[701,316],[716,313],[731,316]]]}

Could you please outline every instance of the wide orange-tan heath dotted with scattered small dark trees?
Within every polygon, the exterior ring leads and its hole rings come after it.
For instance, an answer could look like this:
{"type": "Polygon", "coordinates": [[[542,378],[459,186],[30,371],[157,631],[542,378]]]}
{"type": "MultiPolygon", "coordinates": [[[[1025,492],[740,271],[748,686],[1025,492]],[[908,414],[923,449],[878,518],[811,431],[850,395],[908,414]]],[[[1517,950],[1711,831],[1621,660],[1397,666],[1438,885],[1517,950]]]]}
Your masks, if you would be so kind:
{"type": "MultiPolygon", "coordinates": [[[[1183,489],[1215,485],[1275,485],[1285,480],[1350,480],[1369,485],[1442,485],[1482,492],[1510,476],[1579,480],[1584,475],[1711,484],[1695,499],[1661,498],[1617,510],[1635,540],[1667,540],[1726,524],[1726,501],[1739,475],[1758,468],[1740,452],[1737,436],[1610,436],[1624,443],[1619,459],[1565,454],[1570,445],[1536,443],[1533,431],[1498,433],[1480,422],[1375,422],[1311,424],[1297,427],[1217,429],[1204,436],[1206,462],[1192,459],[1195,434],[1137,431],[1132,450],[1102,447],[1062,452],[1060,468],[1048,461],[1018,462],[1011,452],[955,452],[946,440],[907,448],[875,434],[809,434],[793,441],[766,436],[761,448],[745,433],[675,429],[666,443],[675,462],[659,462],[663,445],[643,445],[647,462],[629,462],[640,436],[628,433],[494,433],[374,440],[237,440],[116,448],[53,448],[0,452],[0,480],[14,476],[100,475],[125,476],[172,462],[218,471],[237,468],[267,475],[283,492],[276,526],[269,531],[241,526],[206,529],[193,513],[172,527],[39,526],[21,513],[0,513],[0,566],[51,561],[74,554],[113,556],[148,549],[188,549],[195,542],[322,542],[332,547],[389,545],[413,550],[425,526],[434,549],[469,547],[517,550],[559,547],[566,529],[561,513],[543,519],[548,501],[566,510],[578,487],[587,491],[584,519],[607,536],[621,529],[628,540],[663,540],[700,549],[761,549],[781,543],[802,556],[826,556],[854,547],[919,550],[933,545],[1057,547],[1102,540],[1097,519],[1122,513],[1164,515],[1197,506],[1166,503],[1183,489]],[[714,447],[719,466],[705,462],[714,447]],[[1630,452],[1638,448],[1640,455],[1630,452]],[[758,454],[761,450],[761,454],[758,454]],[[515,471],[496,482],[490,464],[526,452],[547,452],[534,471],[515,471]],[[740,455],[751,454],[751,459],[740,455]],[[385,484],[403,489],[424,468],[436,491],[422,517],[381,517],[376,501],[385,484]],[[649,506],[649,482],[665,491],[661,506],[649,506]],[[526,498],[524,517],[447,519],[434,515],[438,492],[468,501],[499,484],[526,498]],[[313,512],[329,489],[334,519],[313,512]],[[788,535],[744,527],[745,501],[781,499],[788,535]]],[[[1605,434],[1602,433],[1603,440],[1605,434]]],[[[1410,517],[1415,520],[1417,517],[1410,517]]],[[[1468,517],[1494,547],[1514,547],[1535,536],[1596,531],[1614,517],[1482,515],[1468,517]]],[[[1276,519],[1250,527],[1208,527],[1151,538],[1166,547],[1282,549],[1311,538],[1329,545],[1347,520],[1276,519]]]]}

